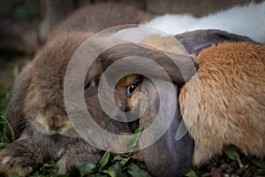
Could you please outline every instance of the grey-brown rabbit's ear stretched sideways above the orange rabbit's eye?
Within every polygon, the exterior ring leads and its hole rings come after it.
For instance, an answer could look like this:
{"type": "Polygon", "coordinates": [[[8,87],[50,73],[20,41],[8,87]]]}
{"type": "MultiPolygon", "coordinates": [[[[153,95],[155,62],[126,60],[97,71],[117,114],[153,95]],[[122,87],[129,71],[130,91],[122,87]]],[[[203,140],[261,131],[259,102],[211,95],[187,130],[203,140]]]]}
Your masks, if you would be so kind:
{"type": "Polygon", "coordinates": [[[130,70],[134,73],[148,73],[150,76],[168,80],[162,74],[165,71],[170,76],[171,81],[177,85],[185,84],[197,72],[197,65],[193,62],[193,58],[189,56],[149,49],[130,42],[105,50],[99,58],[102,60],[105,69],[117,60],[127,58],[125,62],[119,62],[118,65],[113,67],[116,71],[114,74],[122,73],[120,72],[122,70],[130,70]],[[145,58],[154,62],[150,63],[145,58]],[[157,68],[157,65],[161,68],[157,68]]]}

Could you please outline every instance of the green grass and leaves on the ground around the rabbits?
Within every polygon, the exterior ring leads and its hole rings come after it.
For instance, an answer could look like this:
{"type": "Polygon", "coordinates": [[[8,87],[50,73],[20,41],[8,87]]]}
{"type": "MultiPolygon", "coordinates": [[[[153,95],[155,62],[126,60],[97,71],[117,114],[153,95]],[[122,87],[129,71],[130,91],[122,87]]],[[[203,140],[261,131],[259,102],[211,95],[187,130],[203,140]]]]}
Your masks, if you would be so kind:
{"type": "MultiPolygon", "coordinates": [[[[14,78],[18,77],[18,68],[15,67],[13,71],[14,78]]],[[[10,93],[11,88],[6,88],[4,85],[0,84],[0,150],[4,149],[11,141],[7,138],[7,130],[11,130],[11,125],[7,120],[7,105],[11,98],[10,93]]],[[[132,140],[128,143],[126,147],[127,150],[133,150],[133,147],[137,144],[137,141],[140,136],[142,128],[139,128],[136,131],[136,134],[133,135],[132,140]]],[[[234,146],[227,146],[223,149],[224,158],[230,160],[229,163],[234,162],[237,165],[237,170],[242,170],[244,176],[265,176],[265,162],[258,158],[242,158],[242,153],[234,146]],[[246,172],[246,173],[245,173],[246,172]]],[[[228,163],[228,165],[230,165],[228,163]]],[[[70,176],[69,173],[64,175],[57,174],[58,167],[57,163],[53,160],[43,164],[33,173],[28,174],[28,176],[43,176],[43,177],[67,177],[70,176]]],[[[144,164],[131,158],[131,153],[121,155],[112,155],[109,151],[105,152],[102,160],[97,164],[87,164],[82,165],[77,168],[77,173],[80,177],[84,176],[94,176],[94,177],[123,177],[123,176],[132,176],[132,177],[148,177],[150,174],[146,172],[146,167],[144,164]]],[[[223,171],[222,165],[215,166],[215,170],[205,170],[203,168],[191,169],[186,173],[186,177],[197,177],[197,176],[215,176],[215,174],[224,175],[227,174],[226,171],[223,171]]],[[[229,173],[231,175],[231,173],[229,173]]],[[[232,173],[233,176],[239,176],[237,173],[232,173]]],[[[11,175],[11,177],[16,177],[16,175],[11,175]]]]}

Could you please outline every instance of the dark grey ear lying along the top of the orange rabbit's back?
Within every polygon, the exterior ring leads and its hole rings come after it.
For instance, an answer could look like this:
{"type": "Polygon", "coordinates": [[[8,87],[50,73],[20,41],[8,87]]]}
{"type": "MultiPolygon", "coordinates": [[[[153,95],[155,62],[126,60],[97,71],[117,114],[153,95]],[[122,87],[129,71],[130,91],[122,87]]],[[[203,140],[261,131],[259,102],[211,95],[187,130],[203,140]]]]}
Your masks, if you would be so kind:
{"type": "Polygon", "coordinates": [[[180,35],[175,35],[189,54],[198,55],[198,53],[210,47],[212,44],[224,41],[228,42],[253,42],[250,38],[242,35],[235,35],[225,31],[208,29],[186,32],[180,35]]]}

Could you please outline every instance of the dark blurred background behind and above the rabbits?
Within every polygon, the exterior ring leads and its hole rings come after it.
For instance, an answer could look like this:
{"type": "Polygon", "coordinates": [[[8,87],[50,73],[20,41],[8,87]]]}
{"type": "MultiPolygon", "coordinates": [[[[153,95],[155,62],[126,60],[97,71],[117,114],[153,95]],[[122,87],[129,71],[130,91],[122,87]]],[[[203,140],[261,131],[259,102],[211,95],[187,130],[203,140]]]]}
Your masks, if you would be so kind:
{"type": "MultiPolygon", "coordinates": [[[[196,17],[236,4],[262,0],[112,0],[153,14],[190,13],[196,17]]],[[[19,68],[46,41],[49,32],[74,10],[110,0],[2,0],[0,4],[0,86],[11,87],[19,68]]],[[[1,87],[0,87],[1,89],[1,87]]]]}

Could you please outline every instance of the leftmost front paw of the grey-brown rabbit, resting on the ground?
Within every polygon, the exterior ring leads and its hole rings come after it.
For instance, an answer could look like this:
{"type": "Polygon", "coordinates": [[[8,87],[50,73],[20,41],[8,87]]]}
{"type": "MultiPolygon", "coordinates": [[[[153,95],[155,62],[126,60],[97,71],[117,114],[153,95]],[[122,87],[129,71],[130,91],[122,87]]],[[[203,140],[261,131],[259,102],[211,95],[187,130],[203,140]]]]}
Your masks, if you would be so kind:
{"type": "Polygon", "coordinates": [[[24,163],[25,158],[23,157],[12,157],[8,155],[6,150],[0,152],[0,173],[26,176],[27,173],[32,172],[32,167],[22,166],[24,163]]]}

